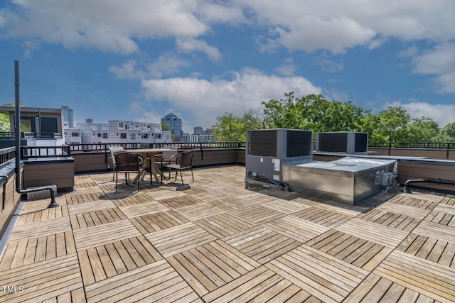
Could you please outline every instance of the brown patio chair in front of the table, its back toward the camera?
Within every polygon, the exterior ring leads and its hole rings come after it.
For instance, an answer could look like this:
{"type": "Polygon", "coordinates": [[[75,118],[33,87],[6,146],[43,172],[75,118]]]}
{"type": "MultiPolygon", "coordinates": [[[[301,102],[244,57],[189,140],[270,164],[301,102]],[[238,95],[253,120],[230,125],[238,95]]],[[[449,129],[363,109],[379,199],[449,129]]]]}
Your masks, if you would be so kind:
{"type": "MultiPolygon", "coordinates": [[[[117,182],[119,179],[119,172],[125,173],[125,182],[128,184],[129,173],[137,173],[137,190],[140,189],[141,173],[147,170],[146,160],[139,153],[132,153],[128,151],[119,151],[114,153],[115,158],[115,190],[117,191],[117,182]]],[[[151,183],[151,176],[150,176],[151,183]]]]}

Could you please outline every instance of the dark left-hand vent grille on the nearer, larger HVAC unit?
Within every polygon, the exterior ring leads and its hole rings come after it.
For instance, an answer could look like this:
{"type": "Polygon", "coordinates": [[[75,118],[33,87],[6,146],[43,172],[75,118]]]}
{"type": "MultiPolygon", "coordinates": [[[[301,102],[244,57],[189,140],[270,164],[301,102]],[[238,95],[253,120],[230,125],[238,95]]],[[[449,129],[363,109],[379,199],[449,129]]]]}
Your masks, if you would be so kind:
{"type": "Polygon", "coordinates": [[[277,157],[277,131],[250,131],[248,155],[277,157]]]}

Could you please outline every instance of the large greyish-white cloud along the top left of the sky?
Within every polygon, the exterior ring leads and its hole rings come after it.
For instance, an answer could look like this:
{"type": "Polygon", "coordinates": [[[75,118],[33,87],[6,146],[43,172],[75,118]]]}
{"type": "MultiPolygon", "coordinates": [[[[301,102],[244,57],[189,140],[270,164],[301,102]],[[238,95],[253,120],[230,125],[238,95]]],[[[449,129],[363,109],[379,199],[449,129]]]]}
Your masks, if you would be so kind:
{"type": "Polygon", "coordinates": [[[198,0],[21,0],[15,4],[22,17],[11,22],[9,35],[38,37],[65,48],[129,54],[139,50],[135,38],[197,36],[209,28],[195,16],[198,0]]]}

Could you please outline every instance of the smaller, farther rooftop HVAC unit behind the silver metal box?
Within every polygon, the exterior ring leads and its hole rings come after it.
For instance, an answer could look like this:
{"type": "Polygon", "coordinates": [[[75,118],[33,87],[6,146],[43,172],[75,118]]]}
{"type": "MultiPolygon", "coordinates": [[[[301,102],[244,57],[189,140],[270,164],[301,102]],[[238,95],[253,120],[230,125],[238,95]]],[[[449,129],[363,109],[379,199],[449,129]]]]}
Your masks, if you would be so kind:
{"type": "Polygon", "coordinates": [[[367,155],[368,133],[354,131],[318,133],[316,136],[316,152],[367,155]]]}

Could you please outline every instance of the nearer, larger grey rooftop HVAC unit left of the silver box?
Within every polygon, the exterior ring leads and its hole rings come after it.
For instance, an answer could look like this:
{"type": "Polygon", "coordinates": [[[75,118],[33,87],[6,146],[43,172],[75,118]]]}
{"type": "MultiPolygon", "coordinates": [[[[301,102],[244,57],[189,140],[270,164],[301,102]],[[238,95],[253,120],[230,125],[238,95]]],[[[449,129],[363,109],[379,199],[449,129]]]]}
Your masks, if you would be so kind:
{"type": "Polygon", "coordinates": [[[246,183],[283,187],[282,165],[313,158],[313,132],[294,129],[247,131],[246,183]]]}

